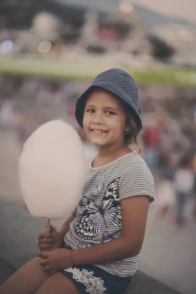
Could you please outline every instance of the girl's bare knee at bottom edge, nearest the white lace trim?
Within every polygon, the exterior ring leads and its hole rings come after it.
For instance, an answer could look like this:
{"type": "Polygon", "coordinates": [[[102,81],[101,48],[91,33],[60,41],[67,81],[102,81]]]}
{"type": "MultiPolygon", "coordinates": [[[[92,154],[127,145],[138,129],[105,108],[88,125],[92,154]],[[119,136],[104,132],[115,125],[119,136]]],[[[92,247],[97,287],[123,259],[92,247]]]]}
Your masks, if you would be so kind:
{"type": "Polygon", "coordinates": [[[79,294],[73,282],[61,272],[57,272],[40,287],[36,294],[79,294]]]}

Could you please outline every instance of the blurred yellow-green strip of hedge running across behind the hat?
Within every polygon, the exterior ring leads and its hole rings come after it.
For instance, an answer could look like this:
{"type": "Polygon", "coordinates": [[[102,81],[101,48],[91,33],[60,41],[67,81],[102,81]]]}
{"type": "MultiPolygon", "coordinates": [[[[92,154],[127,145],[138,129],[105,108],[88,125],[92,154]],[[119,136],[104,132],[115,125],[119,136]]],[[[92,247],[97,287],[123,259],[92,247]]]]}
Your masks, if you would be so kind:
{"type": "MultiPolygon", "coordinates": [[[[32,57],[0,56],[0,73],[49,78],[92,80],[98,73],[114,67],[99,61],[69,61],[32,57]]],[[[119,66],[131,73],[138,84],[168,86],[196,86],[196,70],[178,68],[132,69],[119,66]]]]}

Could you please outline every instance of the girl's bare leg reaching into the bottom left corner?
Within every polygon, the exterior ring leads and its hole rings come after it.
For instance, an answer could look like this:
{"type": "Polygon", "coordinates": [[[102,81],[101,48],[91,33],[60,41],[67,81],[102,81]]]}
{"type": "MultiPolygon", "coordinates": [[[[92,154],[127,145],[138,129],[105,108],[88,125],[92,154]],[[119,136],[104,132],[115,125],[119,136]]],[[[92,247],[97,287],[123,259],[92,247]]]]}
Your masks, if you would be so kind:
{"type": "Polygon", "coordinates": [[[41,257],[29,261],[0,286],[0,294],[35,294],[50,277],[42,266],[41,257]]]}

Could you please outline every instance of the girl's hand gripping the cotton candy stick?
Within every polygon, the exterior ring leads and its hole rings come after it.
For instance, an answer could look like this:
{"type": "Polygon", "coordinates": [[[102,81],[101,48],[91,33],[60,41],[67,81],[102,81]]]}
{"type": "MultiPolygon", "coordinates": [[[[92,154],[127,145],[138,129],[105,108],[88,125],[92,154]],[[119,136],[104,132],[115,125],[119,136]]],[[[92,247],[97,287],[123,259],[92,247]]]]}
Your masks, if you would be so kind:
{"type": "MultiPolygon", "coordinates": [[[[46,226],[47,227],[47,226],[46,226]]],[[[53,226],[49,226],[49,233],[42,232],[38,236],[38,246],[41,252],[48,252],[54,248],[61,248],[63,240],[53,226]]]]}

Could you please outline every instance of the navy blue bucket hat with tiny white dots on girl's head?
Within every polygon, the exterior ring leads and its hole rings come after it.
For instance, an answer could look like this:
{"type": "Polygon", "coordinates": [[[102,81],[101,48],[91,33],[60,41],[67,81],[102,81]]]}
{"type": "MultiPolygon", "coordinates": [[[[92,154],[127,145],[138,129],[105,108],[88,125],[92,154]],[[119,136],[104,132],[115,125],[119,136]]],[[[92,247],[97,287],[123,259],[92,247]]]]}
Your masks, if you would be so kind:
{"type": "Polygon", "coordinates": [[[77,99],[75,105],[75,118],[79,125],[83,127],[84,101],[93,91],[94,87],[105,89],[127,103],[127,108],[135,118],[135,121],[142,129],[140,110],[138,109],[138,89],[133,77],[120,69],[110,69],[99,73],[90,87],[77,99]]]}

